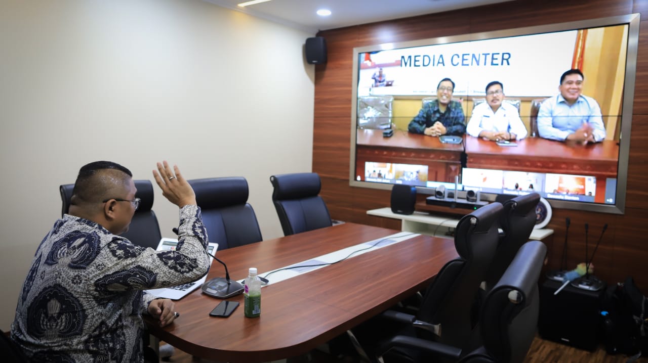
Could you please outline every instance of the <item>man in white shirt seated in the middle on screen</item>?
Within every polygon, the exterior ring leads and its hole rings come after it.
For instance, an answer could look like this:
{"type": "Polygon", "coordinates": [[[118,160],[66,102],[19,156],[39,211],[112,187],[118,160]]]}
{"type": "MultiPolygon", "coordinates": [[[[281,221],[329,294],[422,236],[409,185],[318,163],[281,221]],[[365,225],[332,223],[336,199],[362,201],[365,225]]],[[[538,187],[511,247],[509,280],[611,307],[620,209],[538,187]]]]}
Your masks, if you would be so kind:
{"type": "Polygon", "coordinates": [[[486,86],[486,102],[474,107],[466,127],[468,135],[484,140],[522,140],[527,135],[517,107],[504,100],[502,82],[493,81],[486,86]]]}

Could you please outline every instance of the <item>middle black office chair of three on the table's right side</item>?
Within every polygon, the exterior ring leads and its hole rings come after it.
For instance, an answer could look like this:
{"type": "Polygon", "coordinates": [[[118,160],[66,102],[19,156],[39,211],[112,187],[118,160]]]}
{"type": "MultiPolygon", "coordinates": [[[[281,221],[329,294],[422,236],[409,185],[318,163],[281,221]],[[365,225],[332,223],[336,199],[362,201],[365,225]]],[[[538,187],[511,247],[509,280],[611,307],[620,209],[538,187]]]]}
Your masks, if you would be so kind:
{"type": "MultiPolygon", "coordinates": [[[[502,204],[491,203],[459,220],[454,237],[459,258],[449,261],[439,271],[426,290],[416,316],[386,311],[371,321],[371,325],[364,325],[358,330],[358,335],[367,335],[367,331],[378,331],[397,322],[400,323],[397,326],[402,328],[394,332],[398,335],[416,336],[422,340],[452,346],[468,346],[474,329],[471,314],[473,302],[497,248],[498,219],[502,210],[502,204]],[[378,325],[381,320],[384,324],[378,325]]],[[[355,332],[356,329],[352,331],[355,332]]],[[[365,351],[360,351],[364,359],[373,360],[371,356],[375,356],[376,351],[373,342],[387,337],[380,335],[371,338],[358,336],[358,344],[365,351]]],[[[353,340],[353,336],[351,339],[353,340]]],[[[428,361],[421,356],[420,351],[400,348],[391,349],[386,361],[388,358],[398,362],[428,361]]]]}

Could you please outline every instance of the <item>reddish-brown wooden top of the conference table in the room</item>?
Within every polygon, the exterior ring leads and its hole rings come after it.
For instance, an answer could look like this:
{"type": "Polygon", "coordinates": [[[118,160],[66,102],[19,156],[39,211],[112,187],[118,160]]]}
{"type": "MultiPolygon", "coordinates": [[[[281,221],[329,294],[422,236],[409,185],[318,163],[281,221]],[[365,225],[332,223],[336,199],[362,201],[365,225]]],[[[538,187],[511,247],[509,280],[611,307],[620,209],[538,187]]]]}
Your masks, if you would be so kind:
{"type": "MultiPolygon", "coordinates": [[[[397,230],[344,223],[220,250],[231,278],[259,273],[380,239],[397,230]]],[[[167,327],[145,317],[150,333],[191,355],[222,362],[266,362],[306,353],[428,285],[457,252],[451,239],[417,236],[335,265],[273,283],[261,291],[261,315],[245,318],[243,296],[229,318],[209,316],[222,300],[200,289],[176,301],[167,327]]],[[[209,278],[224,276],[214,261],[209,278]]],[[[272,275],[268,277],[272,282],[272,275]]]]}

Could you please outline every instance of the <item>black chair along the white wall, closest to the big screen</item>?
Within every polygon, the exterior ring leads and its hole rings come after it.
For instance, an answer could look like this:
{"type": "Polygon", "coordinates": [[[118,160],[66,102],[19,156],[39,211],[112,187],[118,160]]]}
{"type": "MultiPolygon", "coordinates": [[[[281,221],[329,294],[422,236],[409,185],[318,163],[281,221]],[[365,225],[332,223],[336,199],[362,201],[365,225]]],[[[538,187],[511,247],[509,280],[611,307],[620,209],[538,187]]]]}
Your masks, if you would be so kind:
{"type": "Polygon", "coordinates": [[[272,175],[272,201],[284,236],[332,225],[329,209],[319,196],[317,173],[272,175]]]}

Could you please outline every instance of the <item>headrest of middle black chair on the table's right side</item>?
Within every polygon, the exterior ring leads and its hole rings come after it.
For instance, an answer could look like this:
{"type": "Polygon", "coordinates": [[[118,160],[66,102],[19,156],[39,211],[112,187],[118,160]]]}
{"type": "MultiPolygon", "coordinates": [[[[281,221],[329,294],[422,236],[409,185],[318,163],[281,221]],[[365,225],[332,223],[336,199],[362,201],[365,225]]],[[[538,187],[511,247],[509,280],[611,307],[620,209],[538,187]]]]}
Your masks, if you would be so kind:
{"type": "Polygon", "coordinates": [[[461,258],[467,259],[472,254],[470,242],[473,237],[466,239],[466,236],[493,232],[494,238],[497,238],[498,220],[500,219],[502,210],[502,203],[494,202],[459,219],[455,230],[454,247],[461,258]]]}

